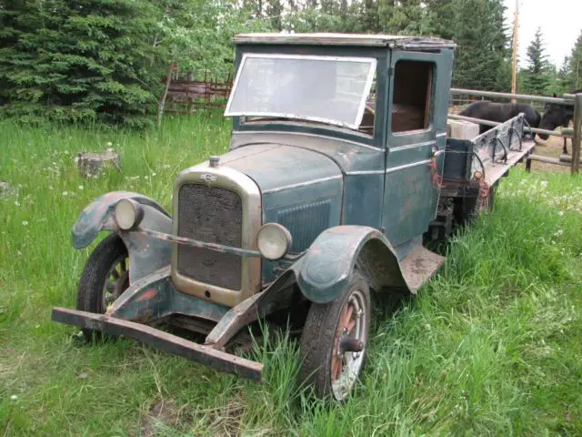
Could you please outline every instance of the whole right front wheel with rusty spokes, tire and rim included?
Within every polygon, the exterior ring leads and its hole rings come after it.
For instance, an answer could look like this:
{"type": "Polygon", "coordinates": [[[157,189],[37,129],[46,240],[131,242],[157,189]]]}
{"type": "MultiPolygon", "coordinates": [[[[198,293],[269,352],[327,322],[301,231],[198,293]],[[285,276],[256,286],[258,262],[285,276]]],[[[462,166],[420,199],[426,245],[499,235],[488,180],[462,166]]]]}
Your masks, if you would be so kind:
{"type": "Polygon", "coordinates": [[[362,371],[370,325],[370,290],[357,271],[340,298],[313,303],[301,339],[301,378],[316,396],[345,401],[362,371]]]}

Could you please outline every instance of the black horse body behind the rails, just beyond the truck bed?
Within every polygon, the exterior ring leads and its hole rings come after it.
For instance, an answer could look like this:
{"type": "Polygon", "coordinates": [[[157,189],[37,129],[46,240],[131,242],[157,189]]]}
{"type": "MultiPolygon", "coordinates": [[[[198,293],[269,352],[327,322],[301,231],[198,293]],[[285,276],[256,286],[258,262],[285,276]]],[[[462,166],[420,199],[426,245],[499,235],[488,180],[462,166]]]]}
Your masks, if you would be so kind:
{"type": "MultiPolygon", "coordinates": [[[[536,109],[525,103],[494,103],[487,100],[479,100],[470,104],[458,115],[503,123],[510,118],[517,117],[521,112],[526,116],[526,121],[530,127],[539,125],[541,115],[536,109]]],[[[491,129],[490,126],[479,125],[479,134],[489,129],[491,129]]],[[[533,137],[535,137],[535,134],[533,137]]]]}

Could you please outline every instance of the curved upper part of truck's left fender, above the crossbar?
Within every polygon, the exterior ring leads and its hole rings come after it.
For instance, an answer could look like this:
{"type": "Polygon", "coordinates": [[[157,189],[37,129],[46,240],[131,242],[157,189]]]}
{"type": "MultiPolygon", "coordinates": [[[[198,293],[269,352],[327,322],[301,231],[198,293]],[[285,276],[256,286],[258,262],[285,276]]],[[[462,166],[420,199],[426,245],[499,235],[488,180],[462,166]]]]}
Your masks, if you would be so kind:
{"type": "MultiPolygon", "coordinates": [[[[147,220],[149,213],[153,213],[156,216],[166,216],[167,221],[171,225],[172,219],[170,215],[151,198],[130,191],[112,191],[104,194],[100,198],[96,198],[83,209],[79,218],[76,219],[72,230],[73,247],[75,249],[87,247],[97,238],[97,235],[103,229],[119,230],[113,218],[113,210],[115,204],[122,198],[132,198],[146,207],[144,221],[147,220]],[[156,211],[156,213],[153,211],[156,211]]],[[[156,230],[162,231],[162,229],[156,230]]]]}

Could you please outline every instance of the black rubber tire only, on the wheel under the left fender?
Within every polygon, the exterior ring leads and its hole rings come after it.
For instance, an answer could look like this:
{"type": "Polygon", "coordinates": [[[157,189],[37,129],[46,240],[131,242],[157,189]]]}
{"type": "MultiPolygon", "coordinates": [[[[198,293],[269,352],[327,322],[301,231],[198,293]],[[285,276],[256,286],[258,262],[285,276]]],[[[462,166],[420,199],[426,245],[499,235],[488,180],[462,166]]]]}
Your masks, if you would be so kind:
{"type": "MultiPolygon", "coordinates": [[[[97,314],[105,313],[103,308],[103,289],[105,287],[105,275],[120,257],[127,257],[127,249],[119,235],[112,233],[103,239],[91,252],[85,263],[85,269],[79,280],[79,288],[76,294],[76,309],[97,314]]],[[[83,329],[85,340],[105,340],[105,335],[97,330],[83,329]]],[[[108,336],[109,340],[115,337],[108,336]]]]}

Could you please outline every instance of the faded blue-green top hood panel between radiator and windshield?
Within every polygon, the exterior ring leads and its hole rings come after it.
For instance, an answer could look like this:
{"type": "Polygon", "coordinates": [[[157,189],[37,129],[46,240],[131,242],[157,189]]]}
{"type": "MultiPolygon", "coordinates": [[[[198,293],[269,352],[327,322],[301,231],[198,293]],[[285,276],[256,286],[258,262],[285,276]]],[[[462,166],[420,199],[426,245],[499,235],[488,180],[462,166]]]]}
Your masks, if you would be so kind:
{"type": "Polygon", "coordinates": [[[245,173],[263,193],[342,178],[341,169],[326,155],[274,143],[238,147],[220,157],[220,166],[245,173]]]}

